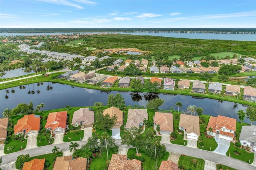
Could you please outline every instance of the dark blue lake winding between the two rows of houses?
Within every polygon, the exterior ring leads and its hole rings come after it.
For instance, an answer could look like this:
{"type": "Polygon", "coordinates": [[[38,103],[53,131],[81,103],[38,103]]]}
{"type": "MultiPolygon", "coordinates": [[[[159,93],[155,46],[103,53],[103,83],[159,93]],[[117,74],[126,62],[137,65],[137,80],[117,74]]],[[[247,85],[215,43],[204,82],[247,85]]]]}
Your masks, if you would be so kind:
{"type": "MultiPolygon", "coordinates": [[[[37,86],[36,83],[30,85],[25,85],[25,89],[20,89],[19,87],[14,87],[15,93],[11,93],[12,88],[8,89],[9,93],[6,93],[6,89],[0,90],[0,113],[4,111],[5,108],[12,109],[16,107],[19,103],[29,103],[33,102],[34,108],[40,103],[44,103],[44,110],[64,108],[66,105],[71,107],[75,106],[93,106],[95,102],[102,102],[104,105],[107,104],[108,95],[120,93],[125,99],[125,105],[140,105],[146,107],[148,101],[146,99],[152,97],[160,97],[165,100],[165,103],[159,109],[170,109],[173,107],[175,110],[178,108],[175,106],[177,101],[182,103],[181,110],[186,110],[189,105],[196,105],[196,107],[202,107],[204,109],[204,114],[206,115],[223,115],[227,117],[233,117],[238,119],[236,113],[242,109],[245,110],[246,107],[237,104],[237,107],[233,108],[234,103],[223,101],[219,102],[214,99],[195,99],[191,96],[186,95],[170,95],[170,94],[152,94],[152,93],[131,93],[131,92],[102,92],[100,90],[85,89],[80,87],[72,87],[70,85],[63,85],[59,83],[44,82],[43,85],[37,86]],[[52,86],[52,89],[47,90],[47,86],[52,86]],[[34,88],[34,94],[28,94],[28,91],[32,91],[34,88]],[[40,91],[38,94],[37,91],[40,91]],[[131,95],[132,94],[132,95],[131,95]],[[5,99],[5,96],[8,99],[5,99]],[[146,99],[145,99],[146,98],[146,99]]],[[[0,115],[2,117],[2,114],[0,115]]],[[[248,119],[244,122],[250,123],[248,119]]],[[[254,122],[255,123],[255,122],[254,122]]]]}

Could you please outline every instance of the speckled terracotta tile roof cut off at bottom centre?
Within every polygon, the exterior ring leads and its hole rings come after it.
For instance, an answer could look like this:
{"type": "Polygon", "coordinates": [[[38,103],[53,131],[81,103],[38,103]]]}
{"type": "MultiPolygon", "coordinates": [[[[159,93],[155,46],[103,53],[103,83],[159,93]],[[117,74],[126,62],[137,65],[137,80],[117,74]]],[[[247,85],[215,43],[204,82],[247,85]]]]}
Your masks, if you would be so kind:
{"type": "Polygon", "coordinates": [[[127,160],[127,155],[112,154],[108,170],[141,170],[141,161],[127,160]]]}

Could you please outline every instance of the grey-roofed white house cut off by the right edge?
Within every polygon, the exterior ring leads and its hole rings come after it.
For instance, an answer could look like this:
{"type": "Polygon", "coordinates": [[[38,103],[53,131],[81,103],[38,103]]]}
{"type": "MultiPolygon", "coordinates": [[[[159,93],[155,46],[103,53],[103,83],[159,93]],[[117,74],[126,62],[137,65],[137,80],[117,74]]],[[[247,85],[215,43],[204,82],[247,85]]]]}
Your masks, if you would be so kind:
{"type": "Polygon", "coordinates": [[[256,150],[256,126],[242,126],[242,130],[239,136],[240,143],[243,146],[252,147],[252,150],[256,150]]]}

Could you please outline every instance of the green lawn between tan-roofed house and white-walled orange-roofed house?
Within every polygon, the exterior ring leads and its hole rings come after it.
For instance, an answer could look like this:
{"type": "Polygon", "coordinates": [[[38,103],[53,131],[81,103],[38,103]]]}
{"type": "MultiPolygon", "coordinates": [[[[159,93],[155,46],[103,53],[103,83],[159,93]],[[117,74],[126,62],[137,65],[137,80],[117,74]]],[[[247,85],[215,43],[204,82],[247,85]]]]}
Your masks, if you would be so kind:
{"type": "Polygon", "coordinates": [[[200,125],[200,138],[202,139],[202,142],[204,143],[204,147],[200,146],[199,142],[197,142],[197,147],[199,149],[203,149],[203,150],[210,150],[210,151],[214,151],[218,144],[215,141],[214,138],[206,138],[206,136],[204,135],[204,132],[206,132],[206,127],[208,125],[210,116],[209,115],[202,115],[201,117],[205,117],[205,123],[202,123],[200,125]]]}

